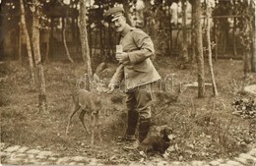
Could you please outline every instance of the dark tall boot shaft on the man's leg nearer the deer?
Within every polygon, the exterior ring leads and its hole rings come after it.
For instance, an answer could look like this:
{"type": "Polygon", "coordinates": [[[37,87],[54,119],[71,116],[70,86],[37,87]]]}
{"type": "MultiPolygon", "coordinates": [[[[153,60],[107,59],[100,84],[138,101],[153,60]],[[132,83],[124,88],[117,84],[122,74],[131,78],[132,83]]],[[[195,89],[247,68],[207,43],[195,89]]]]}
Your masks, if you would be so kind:
{"type": "Polygon", "coordinates": [[[127,115],[127,129],[126,129],[126,139],[134,140],[135,132],[138,124],[139,113],[137,111],[128,111],[127,115]]]}

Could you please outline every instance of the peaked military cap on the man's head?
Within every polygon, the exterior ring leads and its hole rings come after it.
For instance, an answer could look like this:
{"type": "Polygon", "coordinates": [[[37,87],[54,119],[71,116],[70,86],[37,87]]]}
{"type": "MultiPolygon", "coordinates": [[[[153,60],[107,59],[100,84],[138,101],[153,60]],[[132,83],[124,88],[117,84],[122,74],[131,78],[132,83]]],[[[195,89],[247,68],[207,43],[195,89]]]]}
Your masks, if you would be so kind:
{"type": "Polygon", "coordinates": [[[113,7],[106,11],[103,15],[104,20],[108,23],[114,22],[120,16],[123,16],[124,9],[122,7],[113,7]]]}

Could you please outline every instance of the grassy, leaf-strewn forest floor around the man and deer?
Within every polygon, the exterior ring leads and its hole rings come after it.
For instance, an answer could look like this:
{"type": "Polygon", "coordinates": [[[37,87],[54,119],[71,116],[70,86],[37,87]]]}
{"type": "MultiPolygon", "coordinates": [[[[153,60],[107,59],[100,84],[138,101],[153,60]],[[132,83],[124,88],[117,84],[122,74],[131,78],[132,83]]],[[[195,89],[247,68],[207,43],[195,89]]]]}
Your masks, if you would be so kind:
{"type": "MultiPolygon", "coordinates": [[[[169,98],[157,98],[153,110],[153,128],[168,125],[175,135],[165,160],[232,158],[247,152],[256,143],[255,96],[243,88],[255,84],[256,75],[244,79],[242,67],[242,61],[218,60],[214,63],[219,96],[213,97],[206,65],[206,96],[198,98],[196,65],[180,69],[179,63],[172,58],[156,61],[162,79],[172,83],[165,88],[171,88],[169,93],[178,96],[167,105],[162,101],[169,98]],[[232,106],[235,101],[240,105],[232,106]],[[237,111],[240,106],[242,111],[237,111]],[[246,109],[251,109],[251,112],[246,112],[246,109]]],[[[28,64],[1,62],[1,142],[39,147],[63,156],[94,157],[103,164],[126,164],[142,159],[138,152],[125,151],[124,144],[116,142],[125,131],[125,104],[110,105],[110,110],[100,114],[102,142],[96,139],[95,145],[90,145],[90,136],[85,133],[78,114],[73,118],[69,135],[65,135],[72,107],[71,94],[77,81],[84,77],[82,63],[51,62],[45,64],[44,74],[47,111],[40,112],[37,109],[38,91],[30,87],[28,64]]]]}

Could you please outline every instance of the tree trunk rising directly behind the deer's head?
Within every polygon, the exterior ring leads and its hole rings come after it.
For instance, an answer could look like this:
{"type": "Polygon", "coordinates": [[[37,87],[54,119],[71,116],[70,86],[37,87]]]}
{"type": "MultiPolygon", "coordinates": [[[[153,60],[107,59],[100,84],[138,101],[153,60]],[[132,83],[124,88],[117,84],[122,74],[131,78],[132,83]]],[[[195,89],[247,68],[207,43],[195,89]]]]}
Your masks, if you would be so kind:
{"type": "Polygon", "coordinates": [[[93,77],[93,70],[92,70],[92,62],[90,57],[90,49],[88,43],[88,33],[87,33],[87,7],[86,7],[86,0],[80,0],[80,35],[81,35],[81,46],[82,46],[82,55],[85,65],[87,67],[87,73],[89,78],[93,77]]]}

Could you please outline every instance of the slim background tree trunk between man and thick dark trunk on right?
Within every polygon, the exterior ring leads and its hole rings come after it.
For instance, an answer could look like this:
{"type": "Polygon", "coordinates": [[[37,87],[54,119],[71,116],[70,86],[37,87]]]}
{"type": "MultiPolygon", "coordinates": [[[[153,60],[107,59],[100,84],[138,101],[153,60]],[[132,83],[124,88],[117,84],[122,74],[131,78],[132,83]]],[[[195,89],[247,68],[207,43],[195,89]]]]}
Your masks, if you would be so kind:
{"type": "Polygon", "coordinates": [[[187,50],[187,1],[182,0],[182,57],[186,64],[188,62],[188,50],[187,50]]]}

